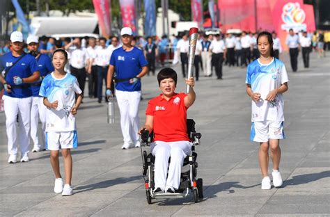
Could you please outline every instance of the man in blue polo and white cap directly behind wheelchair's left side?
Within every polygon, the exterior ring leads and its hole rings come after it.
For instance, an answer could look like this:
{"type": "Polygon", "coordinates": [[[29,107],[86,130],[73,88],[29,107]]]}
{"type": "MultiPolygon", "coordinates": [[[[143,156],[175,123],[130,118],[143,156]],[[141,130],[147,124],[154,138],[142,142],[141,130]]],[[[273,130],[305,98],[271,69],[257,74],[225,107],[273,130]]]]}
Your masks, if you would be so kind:
{"type": "Polygon", "coordinates": [[[111,95],[111,79],[116,70],[116,97],[120,111],[120,127],[124,137],[122,149],[139,142],[139,103],[141,98],[141,77],[148,72],[148,62],[143,51],[131,45],[132,29],[120,31],[123,47],[113,51],[107,74],[107,97],[111,95]]]}

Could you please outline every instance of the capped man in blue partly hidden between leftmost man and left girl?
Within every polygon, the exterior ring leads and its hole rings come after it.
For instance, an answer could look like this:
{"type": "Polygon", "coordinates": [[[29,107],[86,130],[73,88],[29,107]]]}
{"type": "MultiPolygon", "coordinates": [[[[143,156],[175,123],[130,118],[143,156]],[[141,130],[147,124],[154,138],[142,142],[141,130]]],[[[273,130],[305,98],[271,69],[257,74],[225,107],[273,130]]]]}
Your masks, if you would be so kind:
{"type": "Polygon", "coordinates": [[[46,112],[47,108],[43,104],[43,97],[39,96],[39,90],[41,86],[41,81],[46,77],[47,74],[54,71],[52,61],[46,54],[40,54],[38,51],[38,37],[31,35],[26,39],[27,48],[30,54],[36,58],[38,62],[40,80],[31,83],[32,90],[32,106],[31,106],[31,138],[33,140],[33,150],[32,152],[40,152],[45,149],[45,137],[46,137],[46,112]],[[41,122],[41,137],[38,133],[38,119],[41,122]]]}

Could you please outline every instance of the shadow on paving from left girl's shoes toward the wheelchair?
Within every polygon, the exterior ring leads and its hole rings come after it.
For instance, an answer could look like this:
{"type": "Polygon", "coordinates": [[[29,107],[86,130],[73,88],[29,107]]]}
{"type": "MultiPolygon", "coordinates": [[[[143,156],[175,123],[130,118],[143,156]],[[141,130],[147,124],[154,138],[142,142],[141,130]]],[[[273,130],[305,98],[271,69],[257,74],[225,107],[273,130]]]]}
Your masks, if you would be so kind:
{"type": "Polygon", "coordinates": [[[94,189],[99,189],[99,188],[109,188],[116,184],[125,184],[127,182],[132,182],[137,179],[141,179],[141,175],[134,176],[134,177],[119,177],[116,179],[110,179],[110,180],[106,180],[106,181],[102,181],[102,182],[97,182],[94,184],[88,184],[85,186],[77,186],[74,189],[78,190],[78,191],[76,191],[76,193],[81,193],[84,191],[92,191],[94,189]]]}

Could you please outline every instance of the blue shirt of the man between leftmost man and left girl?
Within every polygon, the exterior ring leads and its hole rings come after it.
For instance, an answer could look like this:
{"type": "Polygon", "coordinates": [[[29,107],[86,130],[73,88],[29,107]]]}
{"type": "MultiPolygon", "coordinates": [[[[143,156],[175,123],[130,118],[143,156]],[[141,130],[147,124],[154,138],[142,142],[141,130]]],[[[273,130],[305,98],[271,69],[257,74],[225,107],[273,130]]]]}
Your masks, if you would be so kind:
{"type": "MultiPolygon", "coordinates": [[[[38,62],[40,77],[46,77],[47,74],[54,71],[54,67],[52,65],[52,60],[46,54],[40,54],[38,58],[36,58],[38,62]]],[[[37,81],[35,83],[31,83],[32,96],[38,97],[39,90],[41,86],[41,81],[37,81]]]]}

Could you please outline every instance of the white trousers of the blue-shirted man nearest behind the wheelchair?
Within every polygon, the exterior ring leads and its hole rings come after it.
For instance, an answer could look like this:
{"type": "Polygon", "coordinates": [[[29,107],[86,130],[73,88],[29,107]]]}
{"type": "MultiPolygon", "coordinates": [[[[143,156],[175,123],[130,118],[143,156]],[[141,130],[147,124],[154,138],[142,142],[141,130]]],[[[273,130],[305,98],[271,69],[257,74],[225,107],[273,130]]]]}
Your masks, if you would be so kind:
{"type": "Polygon", "coordinates": [[[136,143],[139,140],[139,103],[141,91],[116,90],[116,97],[120,111],[120,127],[124,143],[136,143]]]}

